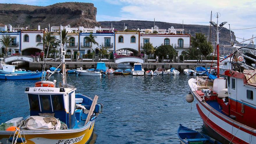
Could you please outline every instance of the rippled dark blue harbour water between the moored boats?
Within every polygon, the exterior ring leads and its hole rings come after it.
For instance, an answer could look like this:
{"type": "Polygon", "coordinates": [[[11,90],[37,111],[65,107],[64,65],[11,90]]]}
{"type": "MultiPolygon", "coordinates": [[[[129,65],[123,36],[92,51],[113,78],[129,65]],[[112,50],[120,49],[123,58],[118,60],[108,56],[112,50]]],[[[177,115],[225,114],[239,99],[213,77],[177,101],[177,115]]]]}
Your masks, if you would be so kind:
{"type": "MultiPolygon", "coordinates": [[[[70,74],[76,93],[90,97],[98,95],[104,105],[96,120],[90,143],[179,143],[179,124],[189,128],[202,127],[195,107],[196,100],[186,102],[190,76],[132,76],[105,77],[70,74]]],[[[61,81],[61,74],[51,80],[61,81]]],[[[69,78],[67,78],[69,79],[69,78]]],[[[29,105],[26,87],[38,80],[0,81],[0,122],[27,116],[29,105]]]]}

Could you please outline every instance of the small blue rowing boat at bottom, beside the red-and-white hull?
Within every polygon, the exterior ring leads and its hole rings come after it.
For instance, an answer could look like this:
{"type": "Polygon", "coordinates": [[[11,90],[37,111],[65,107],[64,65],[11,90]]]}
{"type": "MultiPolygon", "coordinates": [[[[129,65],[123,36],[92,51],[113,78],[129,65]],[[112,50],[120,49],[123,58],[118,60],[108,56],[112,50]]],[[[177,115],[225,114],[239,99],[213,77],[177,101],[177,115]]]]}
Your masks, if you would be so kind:
{"type": "Polygon", "coordinates": [[[184,127],[181,124],[179,124],[178,137],[180,139],[180,143],[182,144],[221,144],[215,139],[193,129],[184,127]]]}

